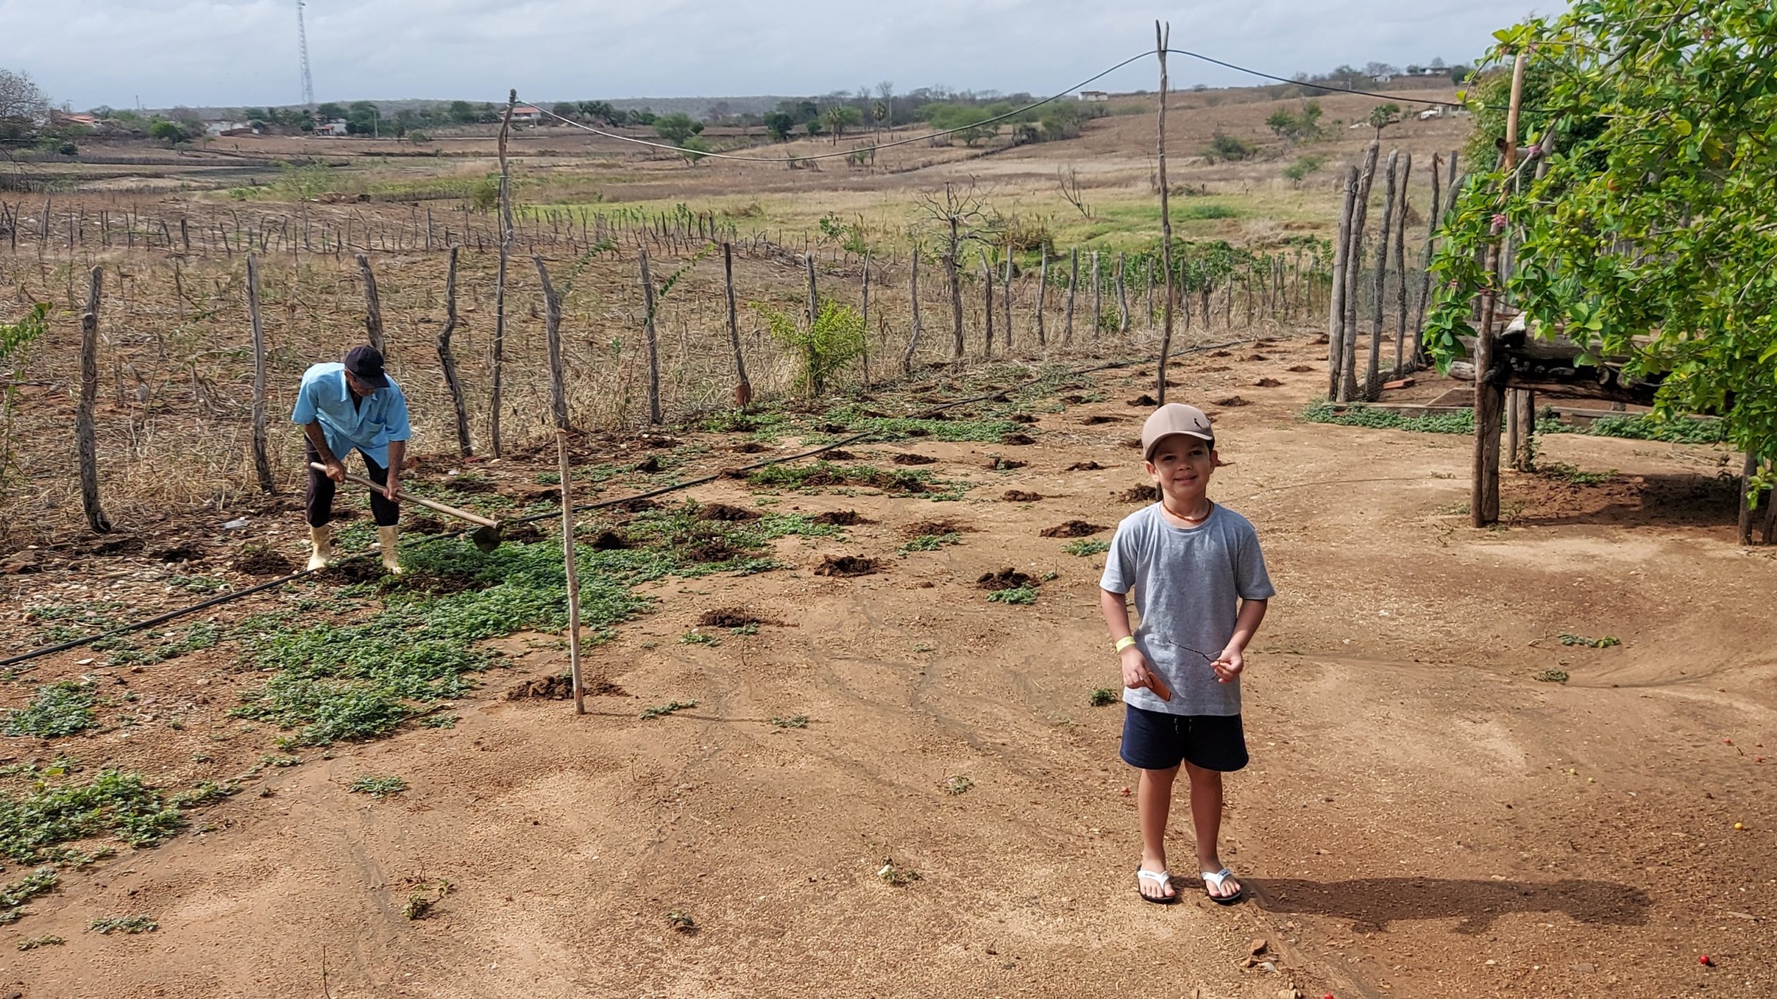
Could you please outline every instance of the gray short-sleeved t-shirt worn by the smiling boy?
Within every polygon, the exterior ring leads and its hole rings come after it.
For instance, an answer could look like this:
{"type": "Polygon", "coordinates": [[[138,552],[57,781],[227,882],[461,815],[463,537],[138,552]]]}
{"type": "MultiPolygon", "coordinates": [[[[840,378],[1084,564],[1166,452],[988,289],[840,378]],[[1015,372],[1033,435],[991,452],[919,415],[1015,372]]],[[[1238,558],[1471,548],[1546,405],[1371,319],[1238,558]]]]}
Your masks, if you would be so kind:
{"type": "Polygon", "coordinates": [[[1128,688],[1125,704],[1167,715],[1240,713],[1240,677],[1221,683],[1210,663],[1233,638],[1239,601],[1276,594],[1251,521],[1217,503],[1201,524],[1178,528],[1153,503],[1116,526],[1098,585],[1136,590],[1136,647],[1173,688],[1171,700],[1128,688]]]}

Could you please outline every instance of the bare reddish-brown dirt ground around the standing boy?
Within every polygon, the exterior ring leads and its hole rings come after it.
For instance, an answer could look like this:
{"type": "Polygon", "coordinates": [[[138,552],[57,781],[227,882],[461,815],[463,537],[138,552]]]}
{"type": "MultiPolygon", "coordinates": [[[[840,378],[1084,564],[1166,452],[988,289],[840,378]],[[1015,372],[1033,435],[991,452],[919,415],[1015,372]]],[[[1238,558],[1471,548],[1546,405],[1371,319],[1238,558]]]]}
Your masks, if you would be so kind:
{"type": "MultiPolygon", "coordinates": [[[[796,569],[654,585],[656,613],[590,651],[615,691],[586,716],[506,700],[494,674],[455,729],[309,750],[192,834],[69,875],[9,933],[66,946],[7,947],[0,994],[1770,995],[1773,563],[1733,544],[1733,500],[1704,485],[1717,452],[1550,437],[1546,460],[1619,475],[1507,473],[1509,523],[1475,531],[1459,512],[1468,439],[1295,421],[1324,350],[1258,343],[1176,375],[1215,412],[1228,466],[1212,496],[1256,523],[1279,588],[1249,656],[1253,764],[1230,779],[1224,827],[1246,905],[1137,899],[1121,713],[1088,706],[1116,675],[1102,556],[1040,533],[1136,508],[1116,500],[1143,482],[1125,446],[1143,409],[1127,400],[1151,384],[1125,370],[1096,375],[1104,402],[1032,411],[1034,444],[853,448],[924,453],[974,485],[947,503],[784,494],[778,508],[869,523],[777,542],[796,569]],[[992,455],[1029,464],[986,471],[992,455]],[[904,528],[933,517],[972,530],[901,555],[904,528]],[[812,574],[828,555],[881,571],[812,574]],[[1056,578],[1031,606],[988,603],[977,576],[1008,567],[1056,578]],[[729,606],[766,624],[677,640],[729,606]],[[1569,681],[1532,679],[1548,668],[1569,681]],[[638,718],[668,700],[697,707],[638,718]],[[771,723],[796,715],[805,729],[771,723]],[[409,791],[347,793],[364,775],[409,791]],[[919,878],[887,883],[885,864],[919,878]],[[434,912],[403,917],[441,878],[434,912]],[[123,912],[160,930],[85,930],[123,912]]],[[[691,496],[755,500],[730,480],[691,496]]],[[[146,610],[153,572],[92,556],[16,578],[14,597],[114,587],[146,610]]],[[[297,613],[242,604],[222,617],[297,613]]],[[[537,638],[506,642],[512,679],[563,668],[537,638]]],[[[76,675],[85,656],[34,679],[76,675]]],[[[178,780],[270,748],[274,732],[224,716],[251,683],[226,649],[119,675],[147,711],[192,702],[192,723],[7,752],[178,780]]],[[[1189,869],[1182,823],[1171,850],[1189,869]]]]}

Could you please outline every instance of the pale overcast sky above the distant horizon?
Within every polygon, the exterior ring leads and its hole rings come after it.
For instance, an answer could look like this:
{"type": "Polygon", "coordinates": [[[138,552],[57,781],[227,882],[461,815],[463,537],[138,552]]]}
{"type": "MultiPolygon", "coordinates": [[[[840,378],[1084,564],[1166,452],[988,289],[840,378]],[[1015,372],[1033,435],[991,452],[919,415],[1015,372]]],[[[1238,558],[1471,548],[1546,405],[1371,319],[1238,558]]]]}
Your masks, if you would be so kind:
{"type": "MultiPolygon", "coordinates": [[[[1544,11],[1557,7],[1544,0],[1544,11]]],[[[904,92],[1054,92],[1153,48],[1288,76],[1340,62],[1459,62],[1530,11],[1471,0],[311,0],[315,96],[499,101],[825,94],[881,80],[904,92]]],[[[295,0],[0,0],[0,66],[57,101],[267,105],[302,100],[295,0]]],[[[1173,85],[1239,73],[1176,59],[1173,85]]],[[[1151,60],[1098,84],[1157,85],[1151,60]]]]}

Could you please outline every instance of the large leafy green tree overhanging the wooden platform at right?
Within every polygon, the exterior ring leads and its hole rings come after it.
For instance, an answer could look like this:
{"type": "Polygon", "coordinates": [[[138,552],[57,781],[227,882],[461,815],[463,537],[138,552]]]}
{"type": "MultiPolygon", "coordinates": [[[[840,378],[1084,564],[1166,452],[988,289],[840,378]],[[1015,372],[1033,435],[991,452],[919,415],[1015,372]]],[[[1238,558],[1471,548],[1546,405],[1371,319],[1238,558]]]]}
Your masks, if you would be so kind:
{"type": "MultiPolygon", "coordinates": [[[[1772,30],[1770,7],[1752,0],[1587,0],[1498,32],[1489,60],[1530,52],[1532,68],[1555,69],[1526,87],[1518,137],[1550,153],[1519,158],[1514,176],[1503,164],[1478,172],[1462,188],[1432,263],[1434,356],[1459,357],[1457,338],[1475,334],[1470,304],[1498,283],[1482,252],[1512,231],[1505,284],[1535,336],[1564,331],[1585,345],[1582,368],[1626,359],[1628,377],[1658,380],[1660,418],[1722,412],[1729,443],[1770,459],[1772,30]]],[[[1477,126],[1493,121],[1477,116],[1477,126]]]]}

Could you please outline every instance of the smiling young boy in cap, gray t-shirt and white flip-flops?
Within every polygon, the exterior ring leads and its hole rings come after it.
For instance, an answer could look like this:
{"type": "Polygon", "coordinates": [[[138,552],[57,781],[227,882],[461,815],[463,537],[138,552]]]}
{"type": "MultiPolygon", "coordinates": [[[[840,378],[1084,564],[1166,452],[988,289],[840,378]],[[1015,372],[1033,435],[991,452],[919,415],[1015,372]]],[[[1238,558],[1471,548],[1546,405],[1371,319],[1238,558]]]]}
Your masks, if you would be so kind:
{"type": "Polygon", "coordinates": [[[1162,405],[1143,425],[1141,448],[1160,501],[1123,517],[1098,583],[1123,659],[1121,757],[1141,770],[1136,887],[1146,901],[1178,899],[1166,869],[1166,818],[1183,764],[1203,891],[1233,905],[1244,891],[1215,850],[1223,773],[1246,766],[1240,672],[1276,590],[1253,524],[1207,496],[1219,464],[1208,416],[1162,405]],[[1125,604],[1132,588],[1141,615],[1134,631],[1125,604]]]}

